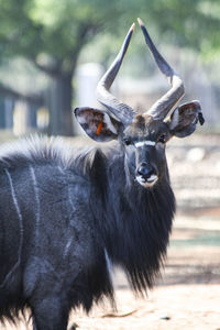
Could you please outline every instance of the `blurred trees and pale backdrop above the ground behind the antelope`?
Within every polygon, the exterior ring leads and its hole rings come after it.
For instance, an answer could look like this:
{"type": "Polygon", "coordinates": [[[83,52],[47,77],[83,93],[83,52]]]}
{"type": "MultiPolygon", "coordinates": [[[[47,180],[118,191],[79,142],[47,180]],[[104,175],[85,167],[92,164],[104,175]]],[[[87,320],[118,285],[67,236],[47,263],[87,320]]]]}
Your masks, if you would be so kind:
{"type": "MultiPolygon", "coordinates": [[[[218,132],[218,0],[0,0],[0,128],[76,134],[72,109],[96,105],[97,80],[138,16],[184,78],[185,99],[200,100],[205,130],[218,132]]],[[[168,88],[138,26],[113,88],[140,109],[168,88]]]]}

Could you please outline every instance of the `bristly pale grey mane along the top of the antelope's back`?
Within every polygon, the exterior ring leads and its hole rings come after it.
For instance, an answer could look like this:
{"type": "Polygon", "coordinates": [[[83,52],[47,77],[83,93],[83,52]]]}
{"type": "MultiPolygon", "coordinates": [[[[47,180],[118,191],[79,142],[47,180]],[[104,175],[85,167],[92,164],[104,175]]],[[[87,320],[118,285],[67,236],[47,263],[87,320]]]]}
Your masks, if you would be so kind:
{"type": "Polygon", "coordinates": [[[99,146],[78,147],[62,138],[31,135],[0,146],[0,170],[51,164],[89,175],[94,167],[105,166],[111,152],[99,146]]]}

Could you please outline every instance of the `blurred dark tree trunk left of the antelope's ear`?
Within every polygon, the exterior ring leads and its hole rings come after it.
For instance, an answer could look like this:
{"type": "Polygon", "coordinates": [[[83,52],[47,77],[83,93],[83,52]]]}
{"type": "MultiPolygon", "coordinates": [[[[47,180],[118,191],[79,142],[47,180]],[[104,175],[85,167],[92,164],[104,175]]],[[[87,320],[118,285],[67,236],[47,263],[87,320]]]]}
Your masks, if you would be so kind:
{"type": "Polygon", "coordinates": [[[50,128],[52,135],[73,135],[73,110],[72,110],[72,78],[73,73],[66,76],[53,78],[48,97],[50,128]]]}

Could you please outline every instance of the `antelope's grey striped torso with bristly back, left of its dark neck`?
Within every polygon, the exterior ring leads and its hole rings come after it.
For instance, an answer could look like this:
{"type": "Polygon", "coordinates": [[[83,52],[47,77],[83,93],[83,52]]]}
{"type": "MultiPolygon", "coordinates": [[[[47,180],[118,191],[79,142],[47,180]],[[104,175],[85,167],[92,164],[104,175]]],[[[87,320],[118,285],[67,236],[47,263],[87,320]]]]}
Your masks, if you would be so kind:
{"type": "Polygon", "coordinates": [[[10,301],[76,286],[97,260],[90,182],[63,148],[35,138],[0,151],[0,317],[10,301]]]}

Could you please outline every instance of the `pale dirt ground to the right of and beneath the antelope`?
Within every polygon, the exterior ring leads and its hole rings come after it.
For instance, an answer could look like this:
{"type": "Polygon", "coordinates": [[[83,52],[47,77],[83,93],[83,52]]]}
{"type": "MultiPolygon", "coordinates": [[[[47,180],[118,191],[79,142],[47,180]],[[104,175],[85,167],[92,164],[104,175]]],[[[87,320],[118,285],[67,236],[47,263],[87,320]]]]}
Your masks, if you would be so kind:
{"type": "Polygon", "coordinates": [[[116,271],[118,310],[108,304],[89,317],[77,310],[69,329],[220,330],[220,136],[175,140],[167,157],[178,211],[162,278],[138,298],[116,271]]]}

